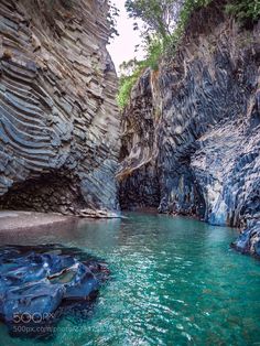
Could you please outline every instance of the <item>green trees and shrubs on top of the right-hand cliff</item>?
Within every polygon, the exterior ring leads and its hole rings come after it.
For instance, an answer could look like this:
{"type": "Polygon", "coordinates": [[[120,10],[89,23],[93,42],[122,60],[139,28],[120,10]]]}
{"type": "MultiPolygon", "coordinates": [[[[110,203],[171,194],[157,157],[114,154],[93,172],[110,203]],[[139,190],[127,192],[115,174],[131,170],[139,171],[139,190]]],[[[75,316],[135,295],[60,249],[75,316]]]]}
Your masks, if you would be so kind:
{"type": "MultiPolygon", "coordinates": [[[[171,51],[174,54],[188,23],[191,14],[213,0],[127,0],[126,8],[130,18],[141,19],[143,45],[147,52],[143,61],[132,60],[121,65],[118,105],[122,110],[128,104],[132,87],[141,73],[151,67],[156,71],[161,56],[171,51]]],[[[227,1],[224,10],[234,15],[241,24],[260,19],[259,0],[227,1]]],[[[136,25],[136,30],[139,28],[136,25]]]]}

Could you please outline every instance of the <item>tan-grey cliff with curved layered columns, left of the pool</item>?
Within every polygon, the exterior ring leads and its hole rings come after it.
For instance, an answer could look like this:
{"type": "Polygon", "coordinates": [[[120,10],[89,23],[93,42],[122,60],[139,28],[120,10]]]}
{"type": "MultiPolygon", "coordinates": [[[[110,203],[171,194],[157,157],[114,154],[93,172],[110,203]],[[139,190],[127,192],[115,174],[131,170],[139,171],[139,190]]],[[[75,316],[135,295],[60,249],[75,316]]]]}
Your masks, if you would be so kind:
{"type": "Polygon", "coordinates": [[[0,1],[0,206],[117,209],[107,1],[0,1]]]}

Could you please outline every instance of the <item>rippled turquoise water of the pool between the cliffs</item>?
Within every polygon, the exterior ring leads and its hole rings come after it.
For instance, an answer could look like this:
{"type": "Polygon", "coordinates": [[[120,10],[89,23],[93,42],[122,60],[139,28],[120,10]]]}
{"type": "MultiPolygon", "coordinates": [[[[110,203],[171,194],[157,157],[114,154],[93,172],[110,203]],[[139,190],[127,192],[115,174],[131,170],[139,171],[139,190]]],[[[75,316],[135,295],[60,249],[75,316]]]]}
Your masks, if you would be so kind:
{"type": "Polygon", "coordinates": [[[88,321],[62,321],[45,343],[11,338],[1,325],[1,345],[260,345],[260,261],[229,249],[235,229],[128,216],[0,236],[0,244],[77,246],[112,271],[88,321]]]}

